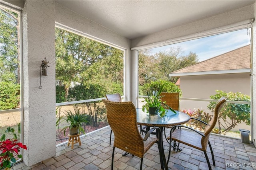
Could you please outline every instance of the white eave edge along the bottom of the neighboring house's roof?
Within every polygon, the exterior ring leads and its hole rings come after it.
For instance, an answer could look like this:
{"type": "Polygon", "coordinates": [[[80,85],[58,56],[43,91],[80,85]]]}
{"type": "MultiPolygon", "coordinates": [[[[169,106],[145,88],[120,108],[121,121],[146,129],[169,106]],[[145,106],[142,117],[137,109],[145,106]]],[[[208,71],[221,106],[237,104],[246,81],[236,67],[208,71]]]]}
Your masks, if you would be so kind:
{"type": "Polygon", "coordinates": [[[180,76],[199,76],[199,75],[210,75],[210,74],[234,74],[234,73],[250,73],[251,69],[236,69],[236,70],[218,70],[218,71],[202,71],[202,72],[184,72],[184,73],[170,73],[170,77],[180,76]]]}

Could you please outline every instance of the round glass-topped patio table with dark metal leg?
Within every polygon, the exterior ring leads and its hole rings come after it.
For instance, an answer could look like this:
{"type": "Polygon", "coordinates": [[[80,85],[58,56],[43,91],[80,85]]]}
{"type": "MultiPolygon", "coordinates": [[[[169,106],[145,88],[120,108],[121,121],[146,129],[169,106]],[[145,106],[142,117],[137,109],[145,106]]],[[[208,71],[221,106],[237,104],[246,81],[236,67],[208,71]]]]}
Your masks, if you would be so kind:
{"type": "MultiPolygon", "coordinates": [[[[142,111],[142,108],[136,109],[137,111],[137,123],[138,125],[145,125],[145,126],[150,126],[150,127],[159,127],[161,131],[163,132],[164,127],[170,127],[170,126],[175,126],[175,125],[182,125],[186,122],[189,121],[190,116],[187,115],[186,113],[183,113],[181,111],[176,111],[176,114],[173,113],[171,110],[167,111],[167,114],[165,117],[160,117],[159,115],[149,115],[148,113],[145,113],[142,111]]],[[[161,139],[161,148],[162,148],[162,160],[160,159],[161,162],[161,168],[162,169],[167,169],[168,170],[168,164],[166,162],[166,158],[164,155],[164,147],[163,147],[163,138],[162,138],[162,133],[161,136],[157,138],[161,139]],[[163,167],[164,166],[164,167],[163,167]]]]}

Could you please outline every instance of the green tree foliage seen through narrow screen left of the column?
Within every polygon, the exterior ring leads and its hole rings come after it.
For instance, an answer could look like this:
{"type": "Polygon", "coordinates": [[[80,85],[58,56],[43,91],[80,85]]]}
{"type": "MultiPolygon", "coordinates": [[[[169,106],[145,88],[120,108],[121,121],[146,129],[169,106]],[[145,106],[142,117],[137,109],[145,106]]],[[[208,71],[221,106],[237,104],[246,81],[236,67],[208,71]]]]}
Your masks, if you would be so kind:
{"type": "Polygon", "coordinates": [[[0,8],[0,110],[19,106],[20,46],[18,14],[0,8]]]}

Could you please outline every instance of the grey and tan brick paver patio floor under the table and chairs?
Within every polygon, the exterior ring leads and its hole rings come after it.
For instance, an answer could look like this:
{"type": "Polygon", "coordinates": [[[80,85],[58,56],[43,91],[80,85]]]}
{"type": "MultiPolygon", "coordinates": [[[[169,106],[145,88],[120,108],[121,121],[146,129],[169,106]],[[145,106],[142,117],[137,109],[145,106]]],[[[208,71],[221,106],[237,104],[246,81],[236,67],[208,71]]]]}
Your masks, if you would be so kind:
{"type": "MultiPolygon", "coordinates": [[[[56,147],[56,156],[48,158],[34,166],[28,167],[23,162],[14,166],[14,170],[110,170],[113,149],[109,146],[110,127],[88,133],[81,137],[82,145],[74,144],[74,149],[63,143],[56,147]]],[[[208,157],[213,170],[256,169],[256,149],[253,144],[244,144],[238,139],[210,136],[214,150],[216,166],[212,164],[210,150],[208,157]]],[[[172,170],[207,170],[208,165],[204,153],[200,150],[180,144],[182,151],[171,152],[168,167],[172,170]]],[[[168,143],[164,139],[164,150],[168,156],[168,143]]],[[[128,154],[122,156],[123,150],[115,149],[114,170],[138,170],[140,158],[128,154]]],[[[143,170],[160,170],[158,147],[155,144],[143,159],[143,170]]]]}

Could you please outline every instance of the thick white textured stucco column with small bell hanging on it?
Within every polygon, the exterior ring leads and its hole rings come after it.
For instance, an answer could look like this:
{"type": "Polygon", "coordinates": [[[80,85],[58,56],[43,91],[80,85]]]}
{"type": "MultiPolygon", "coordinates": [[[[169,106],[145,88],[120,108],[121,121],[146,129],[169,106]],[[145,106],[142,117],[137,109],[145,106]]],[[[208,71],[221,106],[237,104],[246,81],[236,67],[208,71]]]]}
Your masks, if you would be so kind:
{"type": "Polygon", "coordinates": [[[22,10],[24,150],[23,160],[32,166],[56,154],[55,22],[53,1],[26,1],[22,10]],[[40,65],[49,61],[48,76],[40,65]]]}

